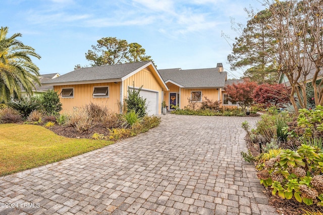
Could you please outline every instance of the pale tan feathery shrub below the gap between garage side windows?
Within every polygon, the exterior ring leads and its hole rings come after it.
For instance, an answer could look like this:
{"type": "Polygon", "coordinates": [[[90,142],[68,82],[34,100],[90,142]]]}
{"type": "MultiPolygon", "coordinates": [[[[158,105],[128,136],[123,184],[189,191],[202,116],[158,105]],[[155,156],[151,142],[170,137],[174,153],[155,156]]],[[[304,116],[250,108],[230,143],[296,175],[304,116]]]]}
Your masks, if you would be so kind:
{"type": "Polygon", "coordinates": [[[75,127],[77,131],[87,131],[91,126],[92,119],[86,108],[77,108],[67,116],[65,124],[75,127]]]}

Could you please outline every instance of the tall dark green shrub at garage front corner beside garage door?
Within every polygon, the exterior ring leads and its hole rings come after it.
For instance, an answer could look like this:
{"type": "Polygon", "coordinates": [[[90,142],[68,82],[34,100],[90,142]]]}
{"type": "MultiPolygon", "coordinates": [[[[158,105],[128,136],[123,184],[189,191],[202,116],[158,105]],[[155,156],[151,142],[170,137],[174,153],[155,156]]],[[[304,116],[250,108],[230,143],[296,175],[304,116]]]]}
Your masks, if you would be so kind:
{"type": "Polygon", "coordinates": [[[133,87],[133,90],[128,89],[128,98],[125,99],[127,110],[134,110],[139,114],[139,117],[143,117],[147,114],[146,99],[140,96],[141,88],[142,87],[138,90],[135,90],[135,87],[133,87]]]}

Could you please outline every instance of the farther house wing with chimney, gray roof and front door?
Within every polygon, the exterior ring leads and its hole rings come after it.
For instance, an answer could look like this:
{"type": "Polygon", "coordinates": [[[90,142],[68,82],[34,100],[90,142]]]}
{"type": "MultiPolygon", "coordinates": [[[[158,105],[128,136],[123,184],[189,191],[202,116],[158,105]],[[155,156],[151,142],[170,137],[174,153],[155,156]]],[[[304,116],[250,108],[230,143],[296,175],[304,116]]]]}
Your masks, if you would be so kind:
{"type": "Polygon", "coordinates": [[[215,68],[172,68],[158,71],[170,89],[169,92],[163,92],[168,109],[175,109],[175,106],[183,109],[188,106],[189,100],[200,104],[205,97],[221,101],[224,106],[237,106],[228,102],[227,96],[223,97],[226,95],[224,87],[227,72],[223,70],[222,63],[218,63],[215,68]]]}

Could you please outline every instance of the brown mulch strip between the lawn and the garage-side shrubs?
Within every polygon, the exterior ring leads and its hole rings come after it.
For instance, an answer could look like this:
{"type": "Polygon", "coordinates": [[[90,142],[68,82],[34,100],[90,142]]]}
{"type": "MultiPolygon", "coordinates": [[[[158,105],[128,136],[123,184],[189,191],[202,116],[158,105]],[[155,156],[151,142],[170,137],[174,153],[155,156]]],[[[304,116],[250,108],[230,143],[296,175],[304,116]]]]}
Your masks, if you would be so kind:
{"type": "Polygon", "coordinates": [[[49,130],[53,131],[54,133],[70,137],[70,138],[91,138],[94,133],[103,134],[104,136],[109,135],[109,130],[105,128],[102,124],[93,124],[87,131],[78,132],[76,128],[64,125],[54,125],[49,130]]]}

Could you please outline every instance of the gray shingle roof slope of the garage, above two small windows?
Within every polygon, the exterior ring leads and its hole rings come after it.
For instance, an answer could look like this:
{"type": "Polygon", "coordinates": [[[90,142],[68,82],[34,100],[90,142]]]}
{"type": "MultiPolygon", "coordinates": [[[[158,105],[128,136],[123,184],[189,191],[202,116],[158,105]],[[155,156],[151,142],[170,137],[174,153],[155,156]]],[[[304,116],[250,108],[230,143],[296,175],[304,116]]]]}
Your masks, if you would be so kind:
{"type": "Polygon", "coordinates": [[[79,68],[43,84],[121,79],[150,61],[79,68]]]}

